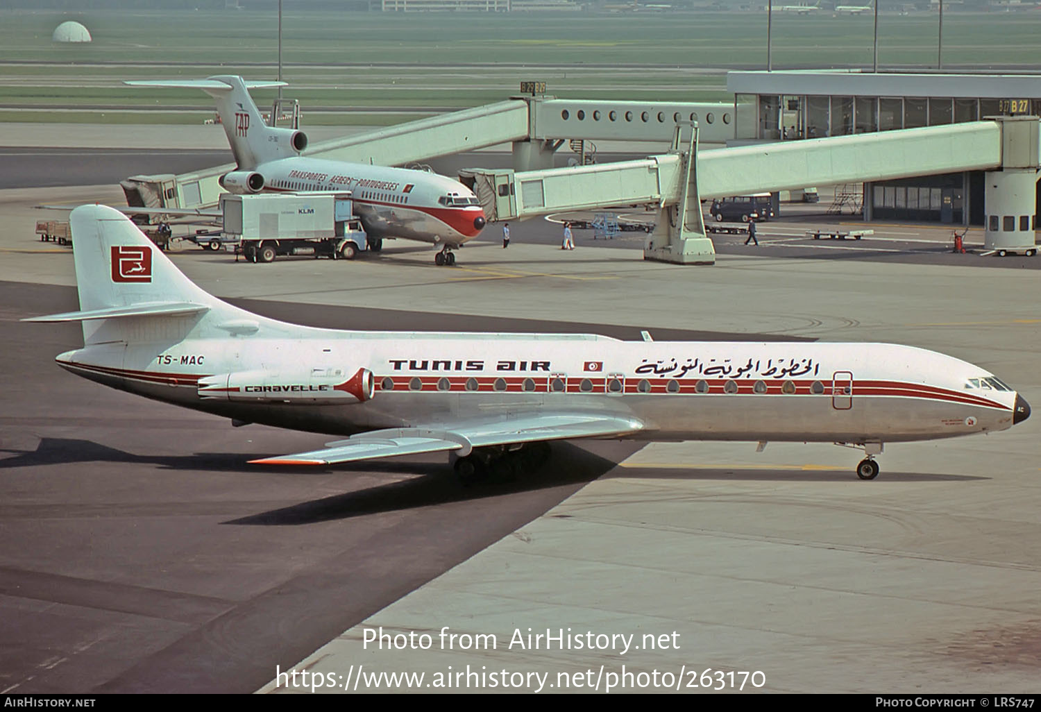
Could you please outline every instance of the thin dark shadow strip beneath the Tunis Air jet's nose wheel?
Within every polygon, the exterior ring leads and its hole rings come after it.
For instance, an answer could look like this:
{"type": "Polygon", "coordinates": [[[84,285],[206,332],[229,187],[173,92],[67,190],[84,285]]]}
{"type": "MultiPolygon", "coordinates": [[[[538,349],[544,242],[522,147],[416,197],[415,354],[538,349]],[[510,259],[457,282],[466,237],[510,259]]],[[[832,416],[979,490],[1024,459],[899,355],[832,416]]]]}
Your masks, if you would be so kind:
{"type": "MultiPolygon", "coordinates": [[[[756,469],[728,469],[727,467],[646,467],[639,465],[619,467],[607,477],[648,480],[726,480],[731,482],[819,482],[839,484],[859,482],[849,469],[778,469],[761,467],[756,469]]],[[[885,471],[873,482],[864,482],[865,487],[903,482],[971,482],[989,480],[980,475],[953,475],[948,473],[893,473],[885,471]]]]}

